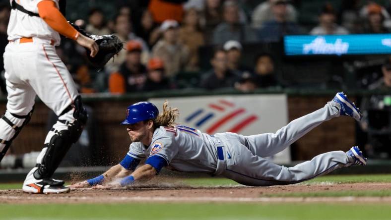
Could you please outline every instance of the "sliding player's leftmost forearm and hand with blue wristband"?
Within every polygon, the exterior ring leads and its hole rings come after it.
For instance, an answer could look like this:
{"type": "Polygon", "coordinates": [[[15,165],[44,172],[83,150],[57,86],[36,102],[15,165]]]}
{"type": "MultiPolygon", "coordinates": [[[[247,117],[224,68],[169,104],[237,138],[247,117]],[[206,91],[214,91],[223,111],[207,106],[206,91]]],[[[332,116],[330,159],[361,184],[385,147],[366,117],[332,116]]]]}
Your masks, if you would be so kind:
{"type": "Polygon", "coordinates": [[[128,170],[124,168],[121,164],[112,166],[110,169],[108,169],[106,172],[104,172],[102,175],[99,175],[95,178],[88,179],[85,181],[81,181],[78,183],[74,183],[70,185],[70,188],[88,188],[94,185],[100,185],[104,184],[105,182],[111,182],[113,179],[116,178],[123,178],[125,176],[129,176],[131,174],[131,170],[128,170]]]}

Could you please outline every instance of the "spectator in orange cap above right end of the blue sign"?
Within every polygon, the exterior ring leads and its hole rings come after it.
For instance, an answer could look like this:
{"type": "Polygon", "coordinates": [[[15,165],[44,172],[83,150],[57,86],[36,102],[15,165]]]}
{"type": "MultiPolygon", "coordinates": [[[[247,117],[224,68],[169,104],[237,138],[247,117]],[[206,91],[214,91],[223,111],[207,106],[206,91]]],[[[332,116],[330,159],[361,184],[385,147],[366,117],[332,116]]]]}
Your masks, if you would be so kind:
{"type": "Polygon", "coordinates": [[[369,3],[364,7],[362,14],[366,15],[367,18],[364,33],[389,33],[389,30],[384,25],[384,21],[386,16],[390,15],[382,6],[376,3],[369,3]]]}

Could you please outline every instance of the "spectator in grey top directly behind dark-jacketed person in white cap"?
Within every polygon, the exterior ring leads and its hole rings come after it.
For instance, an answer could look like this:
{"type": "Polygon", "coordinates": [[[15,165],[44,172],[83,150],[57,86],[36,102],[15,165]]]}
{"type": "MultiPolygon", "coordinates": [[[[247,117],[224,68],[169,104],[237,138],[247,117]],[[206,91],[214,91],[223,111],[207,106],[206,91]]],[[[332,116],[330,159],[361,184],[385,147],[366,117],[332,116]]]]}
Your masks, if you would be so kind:
{"type": "Polygon", "coordinates": [[[224,44],[229,40],[243,43],[256,41],[252,28],[239,21],[239,7],[233,0],[227,0],[223,5],[224,22],[219,24],[213,32],[213,44],[224,44]]]}

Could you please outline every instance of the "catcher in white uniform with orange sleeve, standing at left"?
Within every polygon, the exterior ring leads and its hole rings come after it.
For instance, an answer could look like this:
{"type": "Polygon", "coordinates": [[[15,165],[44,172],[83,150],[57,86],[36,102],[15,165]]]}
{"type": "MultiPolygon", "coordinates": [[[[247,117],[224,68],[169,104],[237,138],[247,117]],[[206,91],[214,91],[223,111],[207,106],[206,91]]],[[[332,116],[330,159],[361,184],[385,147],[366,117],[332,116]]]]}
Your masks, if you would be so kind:
{"type": "Polygon", "coordinates": [[[122,48],[115,36],[80,34],[67,23],[65,0],[10,0],[8,45],[4,53],[7,89],[5,114],[0,119],[0,161],[26,125],[38,96],[58,116],[46,136],[37,165],[27,174],[23,191],[64,193],[64,181],[52,179],[72,143],[87,121],[87,112],[71,75],[56,53],[60,34],[87,49],[98,66],[122,48]],[[100,51],[101,49],[101,51],[100,51]]]}

